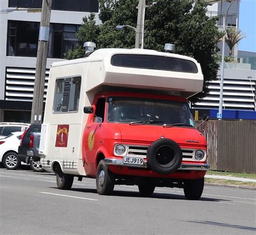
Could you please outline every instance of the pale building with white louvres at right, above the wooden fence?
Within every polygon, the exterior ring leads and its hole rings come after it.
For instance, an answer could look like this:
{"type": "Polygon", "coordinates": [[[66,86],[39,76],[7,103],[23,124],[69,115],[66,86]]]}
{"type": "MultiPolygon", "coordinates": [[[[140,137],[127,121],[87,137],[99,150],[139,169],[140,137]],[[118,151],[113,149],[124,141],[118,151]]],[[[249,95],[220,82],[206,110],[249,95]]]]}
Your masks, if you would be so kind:
{"type": "MultiPolygon", "coordinates": [[[[217,26],[223,31],[224,14],[228,6],[230,9],[226,15],[226,28],[234,27],[239,29],[239,7],[240,1],[235,0],[207,0],[207,15],[218,16],[217,26]],[[231,5],[230,5],[231,4],[231,5]]],[[[222,42],[218,45],[222,53],[222,42]]],[[[225,56],[228,56],[228,46],[225,44],[225,56]]],[[[224,118],[248,118],[256,119],[256,52],[239,51],[238,45],[233,48],[234,62],[224,64],[224,87],[223,87],[223,116],[224,118]],[[241,112],[239,110],[242,110],[241,112]],[[251,111],[251,112],[245,112],[251,111]],[[240,115],[239,112],[242,114],[240,115]]],[[[208,93],[194,105],[201,114],[209,113],[211,118],[217,118],[220,96],[220,69],[217,78],[208,82],[208,93]]]]}

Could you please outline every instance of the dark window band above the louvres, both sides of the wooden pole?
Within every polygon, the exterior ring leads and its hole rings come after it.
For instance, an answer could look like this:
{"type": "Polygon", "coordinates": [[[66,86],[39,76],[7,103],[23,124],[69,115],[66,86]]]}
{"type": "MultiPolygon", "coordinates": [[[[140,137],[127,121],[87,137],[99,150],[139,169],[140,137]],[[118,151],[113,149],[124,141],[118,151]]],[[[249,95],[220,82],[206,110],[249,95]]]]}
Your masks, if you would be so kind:
{"type": "MultiPolygon", "coordinates": [[[[64,58],[75,50],[78,42],[76,32],[80,25],[51,24],[48,58],[64,58]]],[[[36,57],[39,22],[8,20],[7,56],[36,57]]]]}

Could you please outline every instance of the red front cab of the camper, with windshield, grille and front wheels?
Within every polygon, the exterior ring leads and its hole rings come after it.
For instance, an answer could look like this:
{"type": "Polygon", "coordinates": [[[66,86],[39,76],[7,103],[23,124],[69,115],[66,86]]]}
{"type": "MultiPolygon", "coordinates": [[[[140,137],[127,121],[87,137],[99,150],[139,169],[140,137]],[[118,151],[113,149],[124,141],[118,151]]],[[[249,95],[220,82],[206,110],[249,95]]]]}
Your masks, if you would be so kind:
{"type": "Polygon", "coordinates": [[[84,168],[87,176],[96,177],[100,193],[109,193],[117,181],[138,184],[144,195],[155,186],[193,184],[192,191],[185,191],[186,197],[201,196],[209,167],[207,143],[195,127],[186,99],[105,92],[96,95],[85,112],[92,113],[83,133],[84,168]]]}

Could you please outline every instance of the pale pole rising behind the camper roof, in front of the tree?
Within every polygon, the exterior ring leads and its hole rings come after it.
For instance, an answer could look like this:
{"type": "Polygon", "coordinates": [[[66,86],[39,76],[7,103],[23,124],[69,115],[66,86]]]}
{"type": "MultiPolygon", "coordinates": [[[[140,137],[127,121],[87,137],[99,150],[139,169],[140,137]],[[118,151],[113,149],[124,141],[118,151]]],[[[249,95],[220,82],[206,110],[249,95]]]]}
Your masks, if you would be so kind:
{"type": "Polygon", "coordinates": [[[146,1],[139,0],[139,5],[137,8],[138,8],[138,18],[137,18],[135,48],[143,49],[143,37],[144,37],[143,34],[144,34],[144,18],[145,18],[146,1]]]}

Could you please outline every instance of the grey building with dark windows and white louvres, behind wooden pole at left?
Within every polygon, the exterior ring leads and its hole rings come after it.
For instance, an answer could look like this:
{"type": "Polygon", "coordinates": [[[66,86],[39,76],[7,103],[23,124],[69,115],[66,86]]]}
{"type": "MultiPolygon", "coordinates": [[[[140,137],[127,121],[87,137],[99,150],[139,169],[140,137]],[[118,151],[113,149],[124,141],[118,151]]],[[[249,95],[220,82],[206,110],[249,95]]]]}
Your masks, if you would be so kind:
{"type": "MultiPolygon", "coordinates": [[[[0,9],[35,9],[42,0],[1,0],[0,9]]],[[[45,94],[50,65],[77,44],[82,18],[96,13],[96,0],[52,0],[45,94]]],[[[0,13],[0,122],[30,121],[41,13],[0,13]]]]}

